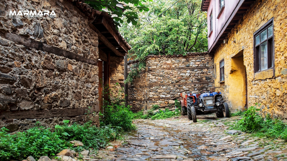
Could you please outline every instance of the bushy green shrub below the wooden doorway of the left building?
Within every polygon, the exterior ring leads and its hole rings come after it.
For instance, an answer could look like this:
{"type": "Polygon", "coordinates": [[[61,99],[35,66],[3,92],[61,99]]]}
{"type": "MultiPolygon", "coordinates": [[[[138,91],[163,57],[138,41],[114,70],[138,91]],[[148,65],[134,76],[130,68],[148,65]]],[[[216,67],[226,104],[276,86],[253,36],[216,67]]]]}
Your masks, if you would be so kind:
{"type": "Polygon", "coordinates": [[[134,114],[131,111],[131,106],[125,107],[125,105],[121,104],[106,105],[102,125],[121,127],[124,131],[135,130],[133,117],[134,114]]]}

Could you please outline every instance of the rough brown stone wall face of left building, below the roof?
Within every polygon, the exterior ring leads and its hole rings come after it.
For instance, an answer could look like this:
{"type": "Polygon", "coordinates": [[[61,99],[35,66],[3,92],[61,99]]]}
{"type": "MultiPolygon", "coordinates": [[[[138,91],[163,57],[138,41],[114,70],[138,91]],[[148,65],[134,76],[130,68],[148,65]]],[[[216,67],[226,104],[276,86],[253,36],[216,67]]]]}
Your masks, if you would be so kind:
{"type": "MultiPolygon", "coordinates": [[[[98,60],[98,35],[72,3],[3,1],[0,9],[6,13],[0,17],[2,34],[13,33],[98,60]],[[53,8],[58,17],[9,19],[12,8],[53,8]]],[[[83,121],[89,111],[96,112],[90,119],[98,124],[98,66],[29,48],[5,36],[0,38],[0,53],[0,127],[26,129],[35,121],[45,126],[63,119],[83,121]]]]}

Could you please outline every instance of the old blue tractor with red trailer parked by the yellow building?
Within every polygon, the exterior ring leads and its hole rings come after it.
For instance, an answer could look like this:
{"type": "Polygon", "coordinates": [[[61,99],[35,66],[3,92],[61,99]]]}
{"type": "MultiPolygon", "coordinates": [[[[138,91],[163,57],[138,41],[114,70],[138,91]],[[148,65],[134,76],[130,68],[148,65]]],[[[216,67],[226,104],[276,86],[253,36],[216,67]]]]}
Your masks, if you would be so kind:
{"type": "Polygon", "coordinates": [[[201,94],[181,93],[181,97],[182,115],[187,113],[188,119],[192,119],[193,122],[197,122],[196,111],[204,113],[215,111],[216,117],[230,117],[228,104],[223,101],[221,92],[203,90],[201,94]]]}

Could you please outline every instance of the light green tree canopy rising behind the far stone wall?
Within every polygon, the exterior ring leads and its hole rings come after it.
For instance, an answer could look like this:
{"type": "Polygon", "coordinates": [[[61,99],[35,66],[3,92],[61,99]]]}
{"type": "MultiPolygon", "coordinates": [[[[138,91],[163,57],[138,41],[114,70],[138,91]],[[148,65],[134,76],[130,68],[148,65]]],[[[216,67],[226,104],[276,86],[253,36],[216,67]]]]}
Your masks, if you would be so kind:
{"type": "Polygon", "coordinates": [[[185,55],[188,52],[207,51],[207,20],[206,12],[200,11],[201,0],[175,2],[177,1],[144,2],[149,11],[139,13],[138,23],[131,25],[124,21],[119,28],[132,47],[129,57],[139,60],[139,64],[134,68],[144,68],[147,55],[185,55]],[[157,18],[154,19],[155,17],[157,18]],[[146,25],[147,23],[149,24],[146,25]],[[142,28],[144,25],[146,26],[142,28]],[[139,30],[140,28],[142,29],[139,30]],[[133,34],[134,32],[136,33],[133,34]]]}

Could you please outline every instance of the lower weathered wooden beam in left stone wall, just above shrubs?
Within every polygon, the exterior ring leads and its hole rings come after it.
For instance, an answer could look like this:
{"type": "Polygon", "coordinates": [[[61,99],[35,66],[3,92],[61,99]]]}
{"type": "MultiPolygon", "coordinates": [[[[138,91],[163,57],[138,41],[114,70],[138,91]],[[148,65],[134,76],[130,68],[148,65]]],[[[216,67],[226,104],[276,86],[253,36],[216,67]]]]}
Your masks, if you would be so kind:
{"type": "Polygon", "coordinates": [[[0,119],[42,119],[52,117],[70,117],[92,113],[94,108],[64,108],[50,110],[21,110],[21,111],[3,111],[0,113],[0,119]]]}

